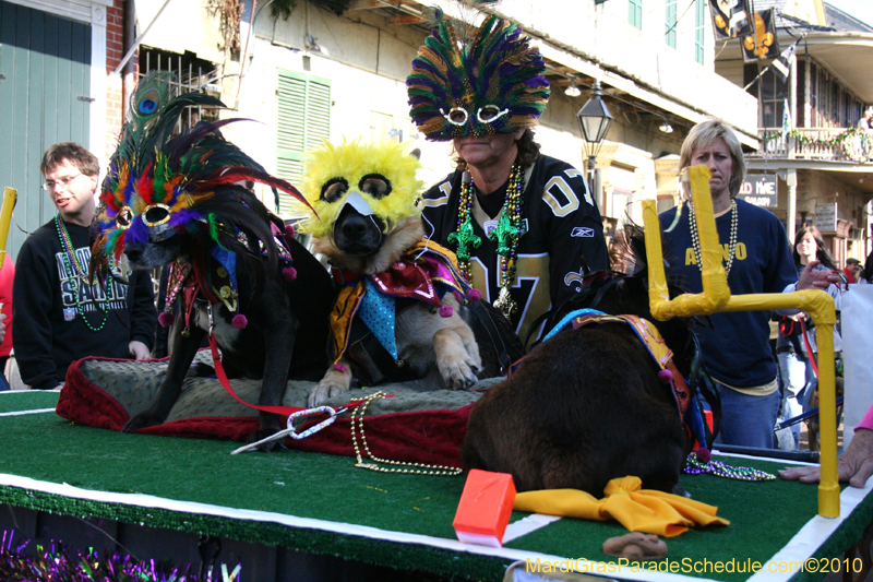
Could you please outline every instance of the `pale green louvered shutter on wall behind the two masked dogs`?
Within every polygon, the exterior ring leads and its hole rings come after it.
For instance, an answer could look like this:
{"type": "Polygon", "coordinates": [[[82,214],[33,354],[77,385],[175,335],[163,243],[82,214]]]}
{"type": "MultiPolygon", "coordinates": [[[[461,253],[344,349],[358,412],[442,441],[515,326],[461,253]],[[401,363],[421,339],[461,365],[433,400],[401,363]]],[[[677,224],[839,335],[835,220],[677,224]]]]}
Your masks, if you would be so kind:
{"type": "MultiPolygon", "coordinates": [[[[331,136],[331,82],[311,75],[279,71],[276,174],[300,183],[303,152],[331,136]]],[[[291,211],[291,198],[279,192],[279,214],[291,211]]]]}

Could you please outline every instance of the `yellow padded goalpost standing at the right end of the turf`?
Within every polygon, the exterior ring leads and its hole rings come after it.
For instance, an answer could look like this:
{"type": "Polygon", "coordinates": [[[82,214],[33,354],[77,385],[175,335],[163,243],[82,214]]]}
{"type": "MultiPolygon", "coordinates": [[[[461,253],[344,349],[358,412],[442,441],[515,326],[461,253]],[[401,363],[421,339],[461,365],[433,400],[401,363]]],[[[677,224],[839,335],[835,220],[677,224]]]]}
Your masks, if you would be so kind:
{"type": "Polygon", "coordinates": [[[709,193],[709,170],[705,166],[689,168],[691,192],[703,263],[703,293],[684,294],[670,299],[663,269],[660,224],[654,200],[643,201],[643,224],[649,276],[651,314],[663,321],[681,316],[702,316],[722,311],[761,311],[801,309],[818,329],[818,426],[821,439],[822,480],[818,485],[818,514],[839,516],[839,482],[837,475],[837,405],[834,385],[834,324],[837,321],[834,298],[818,289],[793,293],[760,293],[731,296],[721,247],[713,215],[709,193]]]}

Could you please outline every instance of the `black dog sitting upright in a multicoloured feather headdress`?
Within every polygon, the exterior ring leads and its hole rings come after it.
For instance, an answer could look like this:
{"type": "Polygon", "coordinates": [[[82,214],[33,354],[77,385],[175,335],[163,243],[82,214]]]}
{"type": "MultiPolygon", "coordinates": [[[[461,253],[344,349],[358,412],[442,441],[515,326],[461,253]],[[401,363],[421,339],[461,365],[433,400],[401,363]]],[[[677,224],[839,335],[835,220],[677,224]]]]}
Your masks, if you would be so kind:
{"type": "MultiPolygon", "coordinates": [[[[261,406],[282,403],[289,375],[312,378],[316,370],[318,378],[326,364],[330,277],[242,183],[302,197],[224,139],[219,128],[237,119],[177,134],[188,107],[224,105],[205,93],[176,96],[170,81],[168,73],[150,73],[132,96],[103,185],[92,250],[92,270],[104,276],[119,262],[169,269],[162,289],[167,310],[158,318],[174,325],[167,373],[151,405],[132,411],[125,432],[164,423],[207,333],[222,348],[228,377],[263,379],[261,406]]],[[[279,417],[262,411],[251,438],[279,428],[279,417]]]]}

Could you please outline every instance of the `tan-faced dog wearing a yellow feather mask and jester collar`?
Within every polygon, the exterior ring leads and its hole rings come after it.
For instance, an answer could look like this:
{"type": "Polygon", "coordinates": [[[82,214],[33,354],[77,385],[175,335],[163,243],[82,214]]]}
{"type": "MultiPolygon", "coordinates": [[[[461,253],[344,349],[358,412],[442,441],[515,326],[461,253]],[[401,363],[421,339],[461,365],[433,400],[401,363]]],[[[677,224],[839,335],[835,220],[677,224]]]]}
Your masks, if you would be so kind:
{"type": "Polygon", "coordinates": [[[314,214],[301,230],[342,286],[331,313],[334,365],[310,406],[348,391],[354,378],[466,389],[505,373],[523,353],[455,254],[424,238],[419,168],[396,142],[325,143],[307,159],[302,191],[314,214]]]}

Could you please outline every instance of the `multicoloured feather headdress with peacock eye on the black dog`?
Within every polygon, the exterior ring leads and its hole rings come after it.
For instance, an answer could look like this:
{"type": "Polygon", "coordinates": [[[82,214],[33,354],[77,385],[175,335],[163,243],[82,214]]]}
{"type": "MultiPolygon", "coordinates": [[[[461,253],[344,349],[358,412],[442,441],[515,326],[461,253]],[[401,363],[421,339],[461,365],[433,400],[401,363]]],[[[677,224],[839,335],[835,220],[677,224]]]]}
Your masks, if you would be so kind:
{"type": "Polygon", "coordinates": [[[171,73],[158,71],[140,81],[109,161],[97,216],[101,244],[95,250],[116,260],[125,242],[164,240],[192,227],[207,229],[216,242],[222,234],[236,236],[234,225],[218,224],[204,203],[220,189],[237,191],[240,205],[246,205],[248,191],[237,182],[265,183],[303,201],[296,188],[266,174],[222,136],[219,128],[240,119],[201,122],[174,135],[187,107],[225,105],[205,93],[176,96],[171,79],[171,73]]]}

